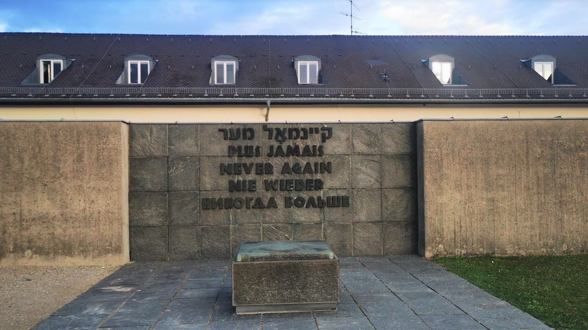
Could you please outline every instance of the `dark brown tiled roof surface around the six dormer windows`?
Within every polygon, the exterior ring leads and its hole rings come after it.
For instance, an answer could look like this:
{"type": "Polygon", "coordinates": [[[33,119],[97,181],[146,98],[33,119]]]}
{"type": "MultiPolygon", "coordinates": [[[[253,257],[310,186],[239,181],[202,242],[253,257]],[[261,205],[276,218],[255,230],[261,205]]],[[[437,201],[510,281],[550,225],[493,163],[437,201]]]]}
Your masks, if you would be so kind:
{"type": "MultiPolygon", "coordinates": [[[[450,87],[443,87],[422,62],[422,59],[437,54],[455,58],[456,71],[467,83],[467,86],[456,87],[462,90],[455,93],[457,97],[467,93],[463,90],[481,95],[487,93],[481,90],[487,89],[554,89],[553,85],[520,61],[540,54],[553,55],[557,59],[557,68],[577,84],[574,89],[588,88],[586,36],[183,36],[0,33],[0,49],[0,87],[5,87],[0,91],[2,97],[22,96],[18,94],[18,87],[31,87],[21,83],[35,69],[35,58],[43,53],[58,53],[75,61],[50,84],[32,86],[34,88],[30,89],[30,92],[25,92],[33,97],[46,94],[53,96],[54,93],[64,93],[66,97],[70,97],[74,93],[88,93],[92,88],[92,93],[101,96],[105,93],[114,93],[114,97],[125,96],[122,94],[128,92],[122,91],[121,95],[113,92],[112,88],[119,87],[133,87],[132,90],[138,91],[138,94],[146,93],[145,97],[156,97],[153,93],[165,92],[165,88],[175,89],[169,93],[179,91],[188,95],[188,89],[198,89],[195,92],[199,93],[205,88],[219,87],[209,84],[211,58],[216,55],[232,55],[240,60],[236,85],[227,86],[238,87],[230,89],[230,97],[235,97],[234,94],[239,90],[247,94],[240,97],[263,96],[263,93],[270,93],[266,92],[268,88],[285,89],[278,92],[280,96],[293,96],[295,93],[303,93],[301,88],[313,88],[320,93],[326,91],[325,93],[340,95],[357,94],[344,95],[345,97],[373,97],[369,96],[373,93],[381,94],[379,96],[393,94],[395,98],[405,97],[402,95],[404,93],[407,94],[406,97],[415,96],[410,94],[425,93],[427,97],[435,97],[431,95],[439,92],[405,92],[397,89],[449,90],[450,87]],[[158,60],[141,90],[138,88],[140,86],[136,85],[115,84],[123,70],[123,59],[133,53],[143,53],[158,60]],[[323,85],[297,83],[293,59],[299,55],[315,55],[321,59],[323,85]],[[382,78],[383,72],[387,73],[387,82],[382,78]],[[250,88],[260,90],[249,90],[250,88]],[[349,89],[373,91],[353,92],[349,89]],[[387,89],[392,90],[386,92],[387,89]],[[16,90],[16,95],[11,93],[12,90],[16,90]],[[150,90],[153,93],[149,92],[150,90]],[[154,92],[156,90],[158,92],[154,92]]],[[[529,93],[536,91],[516,92],[517,95],[529,93]]],[[[449,95],[443,91],[441,94],[442,98],[449,95]]],[[[515,92],[512,94],[515,95],[515,92]]],[[[324,97],[324,93],[321,96],[324,97]]]]}

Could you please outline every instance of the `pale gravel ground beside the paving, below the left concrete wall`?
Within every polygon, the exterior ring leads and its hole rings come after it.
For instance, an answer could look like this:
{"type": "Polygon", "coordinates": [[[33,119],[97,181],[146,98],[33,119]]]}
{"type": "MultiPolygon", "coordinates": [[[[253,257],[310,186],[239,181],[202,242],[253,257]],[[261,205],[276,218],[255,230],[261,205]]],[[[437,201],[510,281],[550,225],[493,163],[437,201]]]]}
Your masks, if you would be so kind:
{"type": "Polygon", "coordinates": [[[0,329],[31,329],[118,268],[0,267],[0,329]]]}

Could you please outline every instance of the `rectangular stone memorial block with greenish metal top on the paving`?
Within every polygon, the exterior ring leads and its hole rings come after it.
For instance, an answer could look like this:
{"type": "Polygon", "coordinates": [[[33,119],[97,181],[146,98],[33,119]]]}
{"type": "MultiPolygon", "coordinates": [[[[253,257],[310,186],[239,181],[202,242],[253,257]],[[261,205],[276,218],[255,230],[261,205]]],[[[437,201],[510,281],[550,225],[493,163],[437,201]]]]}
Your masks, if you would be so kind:
{"type": "Polygon", "coordinates": [[[337,308],[339,259],[325,241],[243,242],[232,268],[236,314],[337,308]]]}

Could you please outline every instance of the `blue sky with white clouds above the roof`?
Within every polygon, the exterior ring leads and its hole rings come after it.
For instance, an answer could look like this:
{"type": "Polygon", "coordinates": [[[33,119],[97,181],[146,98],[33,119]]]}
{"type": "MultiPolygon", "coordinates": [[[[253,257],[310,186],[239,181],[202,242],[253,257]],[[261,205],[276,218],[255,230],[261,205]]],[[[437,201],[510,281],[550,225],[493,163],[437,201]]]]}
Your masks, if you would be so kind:
{"type": "MultiPolygon", "coordinates": [[[[370,35],[586,35],[588,0],[354,0],[370,35]]],[[[0,1],[0,32],[349,34],[348,0],[0,1]]]]}

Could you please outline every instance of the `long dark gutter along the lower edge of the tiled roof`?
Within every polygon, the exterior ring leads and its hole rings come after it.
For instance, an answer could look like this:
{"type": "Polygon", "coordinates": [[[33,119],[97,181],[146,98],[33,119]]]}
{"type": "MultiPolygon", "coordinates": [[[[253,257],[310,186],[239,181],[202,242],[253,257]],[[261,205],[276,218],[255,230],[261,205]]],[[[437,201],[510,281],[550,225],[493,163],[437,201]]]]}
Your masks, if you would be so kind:
{"type": "Polygon", "coordinates": [[[572,98],[541,98],[541,99],[355,99],[355,98],[303,98],[303,97],[279,97],[279,98],[223,98],[223,97],[159,97],[159,98],[72,98],[72,99],[32,99],[30,97],[0,97],[0,105],[132,105],[135,104],[175,104],[175,105],[216,105],[216,104],[233,104],[233,105],[250,105],[250,104],[265,104],[268,112],[271,103],[277,104],[306,104],[306,105],[324,105],[324,104],[389,104],[389,105],[403,105],[403,104],[507,104],[507,103],[527,103],[527,104],[549,104],[549,103],[573,103],[582,104],[588,103],[588,99],[572,99],[572,98]]]}

